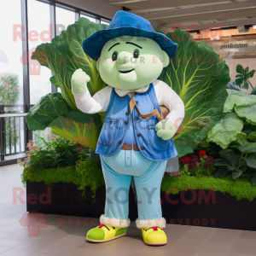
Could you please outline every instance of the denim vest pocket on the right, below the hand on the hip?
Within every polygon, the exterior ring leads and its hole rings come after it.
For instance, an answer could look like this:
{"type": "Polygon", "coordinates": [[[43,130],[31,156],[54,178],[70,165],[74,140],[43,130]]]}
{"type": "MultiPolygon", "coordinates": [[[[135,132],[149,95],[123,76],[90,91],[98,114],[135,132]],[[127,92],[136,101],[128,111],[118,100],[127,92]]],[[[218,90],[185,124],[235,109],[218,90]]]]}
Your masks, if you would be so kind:
{"type": "Polygon", "coordinates": [[[172,140],[165,141],[156,135],[154,125],[148,126],[148,144],[154,151],[166,151],[172,147],[172,140]]]}

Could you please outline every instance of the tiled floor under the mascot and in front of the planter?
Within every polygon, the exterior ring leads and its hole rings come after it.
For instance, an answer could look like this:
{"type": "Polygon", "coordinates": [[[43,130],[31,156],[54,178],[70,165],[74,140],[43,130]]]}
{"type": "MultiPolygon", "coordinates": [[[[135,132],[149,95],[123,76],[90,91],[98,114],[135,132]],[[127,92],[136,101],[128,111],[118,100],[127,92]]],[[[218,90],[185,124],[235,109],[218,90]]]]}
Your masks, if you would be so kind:
{"type": "Polygon", "coordinates": [[[91,219],[45,214],[47,225],[39,228],[38,236],[35,236],[37,230],[32,230],[34,233],[29,236],[27,224],[22,225],[20,221],[26,213],[26,189],[20,182],[21,172],[22,168],[18,165],[0,167],[1,256],[256,255],[256,232],[185,225],[168,225],[168,244],[163,247],[148,247],[143,244],[134,223],[127,236],[93,244],[84,241],[87,231],[94,227],[91,219]],[[21,193],[20,200],[13,200],[14,193],[21,193]]]}

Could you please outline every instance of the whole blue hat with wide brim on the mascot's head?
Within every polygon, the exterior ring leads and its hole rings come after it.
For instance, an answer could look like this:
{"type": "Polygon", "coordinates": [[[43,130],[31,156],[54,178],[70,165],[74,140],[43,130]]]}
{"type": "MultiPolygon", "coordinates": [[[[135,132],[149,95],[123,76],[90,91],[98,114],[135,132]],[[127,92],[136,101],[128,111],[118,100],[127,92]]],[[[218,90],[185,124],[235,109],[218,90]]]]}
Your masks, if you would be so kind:
{"type": "Polygon", "coordinates": [[[99,30],[84,40],[84,52],[96,61],[101,56],[104,44],[110,39],[122,36],[150,38],[159,44],[170,58],[176,55],[177,44],[173,43],[170,38],[155,32],[150,22],[143,17],[122,10],[113,16],[107,29],[99,30]]]}

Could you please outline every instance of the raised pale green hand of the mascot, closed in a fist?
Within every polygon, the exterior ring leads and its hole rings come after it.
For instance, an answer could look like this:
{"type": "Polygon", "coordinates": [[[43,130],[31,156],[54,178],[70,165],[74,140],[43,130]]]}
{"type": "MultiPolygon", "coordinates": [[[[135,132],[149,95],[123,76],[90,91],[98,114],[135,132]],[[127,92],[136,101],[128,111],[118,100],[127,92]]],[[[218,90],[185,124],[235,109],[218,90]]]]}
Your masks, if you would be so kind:
{"type": "Polygon", "coordinates": [[[90,76],[87,75],[81,68],[76,70],[71,78],[72,92],[81,94],[87,89],[87,83],[90,81],[90,76]]]}

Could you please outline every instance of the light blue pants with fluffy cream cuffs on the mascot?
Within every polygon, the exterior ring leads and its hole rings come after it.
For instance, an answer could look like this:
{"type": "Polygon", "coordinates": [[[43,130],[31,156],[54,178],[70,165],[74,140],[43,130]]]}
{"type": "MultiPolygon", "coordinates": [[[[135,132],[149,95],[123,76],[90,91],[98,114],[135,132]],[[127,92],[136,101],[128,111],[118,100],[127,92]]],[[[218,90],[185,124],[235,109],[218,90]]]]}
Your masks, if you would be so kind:
{"type": "Polygon", "coordinates": [[[133,176],[137,191],[137,228],[165,228],[160,204],[160,184],[167,161],[148,160],[134,150],[119,150],[112,156],[101,155],[101,160],[106,183],[105,215],[102,215],[101,223],[115,227],[130,225],[129,189],[133,176]]]}

